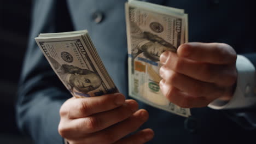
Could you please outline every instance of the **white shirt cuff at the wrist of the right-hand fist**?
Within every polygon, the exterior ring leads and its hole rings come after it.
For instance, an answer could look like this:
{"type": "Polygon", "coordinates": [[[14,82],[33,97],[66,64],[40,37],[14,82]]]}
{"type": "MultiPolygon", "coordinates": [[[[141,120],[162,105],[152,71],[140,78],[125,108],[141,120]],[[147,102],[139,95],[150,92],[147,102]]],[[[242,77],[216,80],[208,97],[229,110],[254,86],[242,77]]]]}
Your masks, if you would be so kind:
{"type": "Polygon", "coordinates": [[[256,105],[256,76],[254,65],[244,56],[237,55],[237,83],[230,101],[214,100],[208,105],[212,109],[241,109],[256,105]]]}

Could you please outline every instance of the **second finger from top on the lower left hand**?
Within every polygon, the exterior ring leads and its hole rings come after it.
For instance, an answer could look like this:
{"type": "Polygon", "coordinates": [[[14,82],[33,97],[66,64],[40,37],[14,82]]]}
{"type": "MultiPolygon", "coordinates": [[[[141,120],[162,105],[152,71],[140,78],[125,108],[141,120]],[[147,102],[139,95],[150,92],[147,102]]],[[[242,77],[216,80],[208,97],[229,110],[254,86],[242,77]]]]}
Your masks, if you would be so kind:
{"type": "Polygon", "coordinates": [[[137,110],[138,103],[135,100],[126,100],[125,104],[117,109],[96,113],[85,118],[73,119],[66,125],[66,128],[69,128],[67,131],[76,133],[75,137],[83,137],[85,134],[95,133],[115,123],[124,121],[137,110]]]}

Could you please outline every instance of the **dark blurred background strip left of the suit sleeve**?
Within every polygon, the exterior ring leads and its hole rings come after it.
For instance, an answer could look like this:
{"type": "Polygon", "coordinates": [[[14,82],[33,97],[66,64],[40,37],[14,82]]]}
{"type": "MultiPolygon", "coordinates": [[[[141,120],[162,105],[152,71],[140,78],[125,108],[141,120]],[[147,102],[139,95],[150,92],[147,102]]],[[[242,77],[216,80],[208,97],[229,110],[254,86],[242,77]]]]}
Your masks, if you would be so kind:
{"type": "Polygon", "coordinates": [[[31,0],[0,0],[0,142],[33,143],[15,122],[17,85],[30,29],[31,0]]]}

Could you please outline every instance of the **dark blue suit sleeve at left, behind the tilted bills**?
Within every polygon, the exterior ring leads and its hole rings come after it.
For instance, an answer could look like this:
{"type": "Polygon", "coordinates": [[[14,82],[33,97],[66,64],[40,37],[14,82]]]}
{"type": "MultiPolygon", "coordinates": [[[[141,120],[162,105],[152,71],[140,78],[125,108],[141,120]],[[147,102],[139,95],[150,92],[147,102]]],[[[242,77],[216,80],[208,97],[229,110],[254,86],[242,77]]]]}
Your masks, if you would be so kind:
{"type": "Polygon", "coordinates": [[[59,13],[56,3],[57,0],[33,3],[31,33],[19,83],[16,104],[18,126],[36,143],[63,143],[57,130],[59,110],[64,101],[72,97],[34,40],[39,33],[61,31],[61,26],[56,23],[59,13]]]}

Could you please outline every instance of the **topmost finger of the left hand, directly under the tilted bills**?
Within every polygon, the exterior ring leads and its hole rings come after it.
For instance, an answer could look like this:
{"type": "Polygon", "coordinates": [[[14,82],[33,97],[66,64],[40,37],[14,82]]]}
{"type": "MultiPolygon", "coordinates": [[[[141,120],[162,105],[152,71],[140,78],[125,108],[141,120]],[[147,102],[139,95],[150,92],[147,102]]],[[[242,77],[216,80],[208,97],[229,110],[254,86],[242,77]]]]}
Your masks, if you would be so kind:
{"type": "Polygon", "coordinates": [[[82,118],[94,113],[115,109],[124,104],[125,97],[121,93],[106,94],[99,97],[69,99],[60,110],[61,117],[69,119],[82,118]]]}

